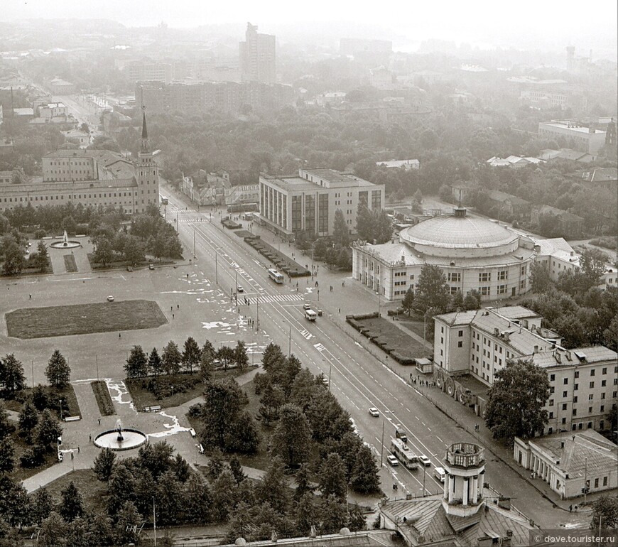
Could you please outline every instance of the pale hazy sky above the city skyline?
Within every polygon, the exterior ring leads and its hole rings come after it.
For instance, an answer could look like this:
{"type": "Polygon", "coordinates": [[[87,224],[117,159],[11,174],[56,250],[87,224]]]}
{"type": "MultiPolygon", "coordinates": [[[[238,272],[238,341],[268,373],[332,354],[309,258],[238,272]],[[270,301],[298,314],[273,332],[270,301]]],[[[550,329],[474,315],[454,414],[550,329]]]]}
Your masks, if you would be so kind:
{"type": "Polygon", "coordinates": [[[539,49],[570,43],[614,53],[618,33],[616,0],[1,0],[0,21],[72,17],[170,27],[251,21],[265,33],[295,24],[303,35],[313,23],[337,22],[340,36],[371,26],[408,43],[441,38],[539,49]]]}

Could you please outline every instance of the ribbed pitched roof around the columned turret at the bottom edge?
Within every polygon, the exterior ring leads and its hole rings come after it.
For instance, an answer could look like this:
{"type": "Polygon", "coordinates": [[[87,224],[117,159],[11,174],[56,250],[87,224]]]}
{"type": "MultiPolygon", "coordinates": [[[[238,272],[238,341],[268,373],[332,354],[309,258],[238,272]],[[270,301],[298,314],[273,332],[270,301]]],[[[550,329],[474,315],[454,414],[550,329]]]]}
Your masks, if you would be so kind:
{"type": "MultiPolygon", "coordinates": [[[[497,493],[485,488],[483,497],[495,499],[497,493]]],[[[477,545],[479,537],[504,538],[508,531],[512,534],[513,547],[524,546],[529,544],[529,531],[534,529],[519,511],[487,502],[473,515],[449,515],[444,509],[442,494],[386,502],[381,512],[391,522],[398,523],[397,528],[406,538],[406,543],[415,546],[421,543],[477,545]],[[438,543],[440,541],[445,543],[438,543]]]]}

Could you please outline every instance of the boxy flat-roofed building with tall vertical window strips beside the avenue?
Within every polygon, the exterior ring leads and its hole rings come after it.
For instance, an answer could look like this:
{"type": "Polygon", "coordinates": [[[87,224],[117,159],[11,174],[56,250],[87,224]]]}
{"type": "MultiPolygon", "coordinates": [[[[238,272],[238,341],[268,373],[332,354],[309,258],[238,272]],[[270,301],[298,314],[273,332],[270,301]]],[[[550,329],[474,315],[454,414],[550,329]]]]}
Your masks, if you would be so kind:
{"type": "Polygon", "coordinates": [[[299,169],[298,175],[288,177],[260,175],[259,200],[260,221],[283,237],[300,232],[332,235],[337,209],[354,234],[359,203],[381,210],[384,185],[327,168],[299,169]]]}

